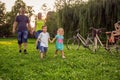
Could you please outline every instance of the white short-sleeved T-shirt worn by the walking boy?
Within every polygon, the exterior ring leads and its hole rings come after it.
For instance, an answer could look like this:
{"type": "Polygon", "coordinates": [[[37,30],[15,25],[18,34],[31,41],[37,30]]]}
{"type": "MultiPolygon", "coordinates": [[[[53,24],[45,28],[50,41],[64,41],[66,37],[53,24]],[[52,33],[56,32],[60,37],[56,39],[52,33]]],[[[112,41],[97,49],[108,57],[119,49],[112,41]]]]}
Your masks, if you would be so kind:
{"type": "Polygon", "coordinates": [[[41,32],[38,36],[38,39],[40,40],[40,46],[48,47],[48,39],[50,38],[49,33],[41,32]]]}

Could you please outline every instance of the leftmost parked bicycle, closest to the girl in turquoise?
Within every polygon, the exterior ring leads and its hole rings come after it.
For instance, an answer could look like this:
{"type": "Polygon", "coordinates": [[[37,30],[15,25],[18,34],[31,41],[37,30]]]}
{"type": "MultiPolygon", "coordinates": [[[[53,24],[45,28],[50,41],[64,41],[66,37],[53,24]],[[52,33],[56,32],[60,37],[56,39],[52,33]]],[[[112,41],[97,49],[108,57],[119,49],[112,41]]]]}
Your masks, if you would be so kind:
{"type": "Polygon", "coordinates": [[[87,48],[89,50],[93,49],[94,42],[93,42],[93,37],[91,36],[92,34],[88,33],[87,38],[85,39],[80,33],[80,29],[77,29],[75,31],[76,35],[73,35],[72,38],[69,38],[67,40],[66,47],[68,50],[78,50],[80,47],[80,42],[82,43],[84,48],[87,48]]]}

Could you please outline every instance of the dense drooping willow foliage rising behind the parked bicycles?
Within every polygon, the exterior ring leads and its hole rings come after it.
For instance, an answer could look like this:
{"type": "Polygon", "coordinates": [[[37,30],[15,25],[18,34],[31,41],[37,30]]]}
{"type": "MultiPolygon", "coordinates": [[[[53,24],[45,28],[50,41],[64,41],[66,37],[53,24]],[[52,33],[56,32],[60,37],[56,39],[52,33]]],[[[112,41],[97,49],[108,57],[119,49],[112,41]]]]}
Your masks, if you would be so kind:
{"type": "Polygon", "coordinates": [[[120,0],[56,0],[59,25],[64,27],[66,38],[77,28],[83,36],[89,27],[114,30],[114,23],[120,20],[120,0]]]}

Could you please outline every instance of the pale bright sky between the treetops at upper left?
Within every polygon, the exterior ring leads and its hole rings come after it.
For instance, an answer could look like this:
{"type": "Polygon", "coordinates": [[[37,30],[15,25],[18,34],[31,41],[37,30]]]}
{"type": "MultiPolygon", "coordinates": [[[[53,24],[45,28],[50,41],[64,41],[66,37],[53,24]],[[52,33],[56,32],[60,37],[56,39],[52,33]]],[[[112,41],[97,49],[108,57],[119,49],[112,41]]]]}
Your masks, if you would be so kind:
{"type": "MultiPolygon", "coordinates": [[[[11,11],[12,6],[15,4],[16,0],[0,0],[1,2],[5,3],[5,7],[7,11],[11,11]]],[[[45,3],[47,4],[47,7],[50,8],[50,10],[54,10],[55,7],[55,0],[23,0],[27,6],[33,6],[33,10],[35,11],[35,14],[38,12],[43,12],[40,10],[42,5],[45,3]]]]}

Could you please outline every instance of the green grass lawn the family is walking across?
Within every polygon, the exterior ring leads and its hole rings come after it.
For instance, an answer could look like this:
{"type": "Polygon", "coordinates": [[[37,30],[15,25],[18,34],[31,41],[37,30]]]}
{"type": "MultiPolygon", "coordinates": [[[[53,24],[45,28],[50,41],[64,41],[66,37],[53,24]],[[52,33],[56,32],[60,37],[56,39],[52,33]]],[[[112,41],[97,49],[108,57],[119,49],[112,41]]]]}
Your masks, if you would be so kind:
{"type": "Polygon", "coordinates": [[[29,54],[24,55],[18,53],[16,39],[0,39],[0,80],[120,80],[120,54],[93,54],[81,47],[65,48],[66,59],[61,54],[54,58],[55,44],[49,44],[47,56],[40,60],[34,43],[29,40],[29,54]]]}

